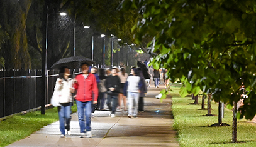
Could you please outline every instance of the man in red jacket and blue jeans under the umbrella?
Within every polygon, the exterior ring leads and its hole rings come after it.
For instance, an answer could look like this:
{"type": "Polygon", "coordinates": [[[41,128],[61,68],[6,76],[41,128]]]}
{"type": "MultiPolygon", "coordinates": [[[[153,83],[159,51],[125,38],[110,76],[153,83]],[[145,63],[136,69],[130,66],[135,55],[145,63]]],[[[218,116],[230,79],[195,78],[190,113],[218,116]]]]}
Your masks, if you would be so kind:
{"type": "Polygon", "coordinates": [[[97,103],[97,82],[94,74],[89,73],[89,64],[81,64],[81,70],[82,74],[77,75],[74,79],[74,88],[77,90],[75,99],[81,133],[80,138],[84,138],[84,136],[91,138],[91,106],[92,103],[97,103]],[[92,99],[92,93],[94,99],[92,99]],[[86,119],[84,119],[84,116],[86,119]]]}

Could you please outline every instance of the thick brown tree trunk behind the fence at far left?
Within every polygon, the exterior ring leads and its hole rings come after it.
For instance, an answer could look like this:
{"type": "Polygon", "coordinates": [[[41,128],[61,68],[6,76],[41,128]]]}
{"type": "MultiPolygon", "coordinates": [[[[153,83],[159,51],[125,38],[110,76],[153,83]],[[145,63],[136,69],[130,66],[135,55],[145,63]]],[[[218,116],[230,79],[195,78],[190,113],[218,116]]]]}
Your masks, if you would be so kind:
{"type": "Polygon", "coordinates": [[[0,23],[10,38],[6,42],[9,51],[4,53],[7,69],[30,69],[30,54],[26,35],[26,18],[31,6],[28,1],[2,1],[0,23]]]}

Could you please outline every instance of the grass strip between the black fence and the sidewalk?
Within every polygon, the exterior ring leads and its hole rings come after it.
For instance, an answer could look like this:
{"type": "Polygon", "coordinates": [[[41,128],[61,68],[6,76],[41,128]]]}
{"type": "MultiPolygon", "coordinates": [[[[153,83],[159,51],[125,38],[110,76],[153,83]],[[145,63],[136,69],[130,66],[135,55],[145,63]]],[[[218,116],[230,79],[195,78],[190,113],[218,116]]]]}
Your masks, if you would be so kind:
{"type": "MultiPolygon", "coordinates": [[[[74,104],[72,112],[75,111],[77,111],[77,107],[74,104]]],[[[57,107],[47,109],[45,115],[41,115],[41,111],[34,111],[0,121],[0,147],[8,146],[15,141],[26,138],[31,133],[55,121],[58,121],[57,107]]]]}

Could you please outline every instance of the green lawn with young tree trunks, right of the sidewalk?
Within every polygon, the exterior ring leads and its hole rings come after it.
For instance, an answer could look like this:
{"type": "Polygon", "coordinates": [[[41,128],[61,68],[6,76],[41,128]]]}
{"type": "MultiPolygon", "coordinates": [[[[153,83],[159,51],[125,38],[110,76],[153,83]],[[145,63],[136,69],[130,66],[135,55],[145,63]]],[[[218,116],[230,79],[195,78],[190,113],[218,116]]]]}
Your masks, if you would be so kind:
{"type": "MultiPolygon", "coordinates": [[[[218,123],[218,103],[211,102],[212,114],[204,116],[207,110],[201,105],[191,105],[191,97],[181,98],[179,87],[172,86],[172,111],[174,114],[174,128],[177,129],[180,146],[256,146],[256,124],[248,120],[238,120],[237,141],[231,143],[232,138],[232,111],[225,108],[223,123],[230,126],[208,127],[218,123]]],[[[201,98],[199,98],[201,103],[201,98]]],[[[207,108],[207,102],[206,108],[207,108]]]]}

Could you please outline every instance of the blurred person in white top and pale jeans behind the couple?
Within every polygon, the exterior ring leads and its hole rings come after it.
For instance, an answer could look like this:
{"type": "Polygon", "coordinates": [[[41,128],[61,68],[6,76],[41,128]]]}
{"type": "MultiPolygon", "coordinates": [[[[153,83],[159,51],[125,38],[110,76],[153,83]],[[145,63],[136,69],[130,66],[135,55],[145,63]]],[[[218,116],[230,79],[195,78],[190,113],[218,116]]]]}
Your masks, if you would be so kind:
{"type": "Polygon", "coordinates": [[[125,83],[124,95],[128,99],[128,118],[137,118],[138,113],[138,98],[142,90],[142,81],[138,76],[136,68],[131,68],[131,75],[128,76],[125,83]]]}

